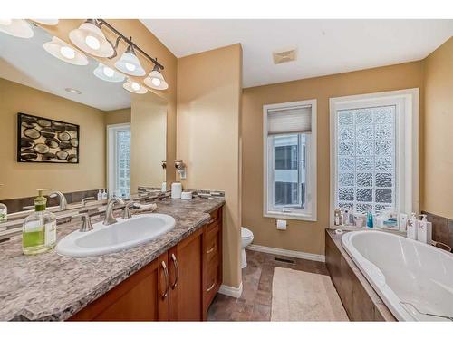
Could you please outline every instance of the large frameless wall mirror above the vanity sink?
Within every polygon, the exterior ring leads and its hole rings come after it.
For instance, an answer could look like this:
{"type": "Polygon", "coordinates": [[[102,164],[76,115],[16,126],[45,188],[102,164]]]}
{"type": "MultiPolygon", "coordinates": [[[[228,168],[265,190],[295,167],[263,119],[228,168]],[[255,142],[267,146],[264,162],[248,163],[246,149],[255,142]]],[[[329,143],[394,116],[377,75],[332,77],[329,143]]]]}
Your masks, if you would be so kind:
{"type": "Polygon", "coordinates": [[[129,198],[140,186],[161,189],[166,100],[128,92],[123,74],[31,27],[29,39],[0,33],[0,201],[8,213],[30,209],[40,188],[62,192],[69,205],[95,204],[100,190],[129,198]]]}

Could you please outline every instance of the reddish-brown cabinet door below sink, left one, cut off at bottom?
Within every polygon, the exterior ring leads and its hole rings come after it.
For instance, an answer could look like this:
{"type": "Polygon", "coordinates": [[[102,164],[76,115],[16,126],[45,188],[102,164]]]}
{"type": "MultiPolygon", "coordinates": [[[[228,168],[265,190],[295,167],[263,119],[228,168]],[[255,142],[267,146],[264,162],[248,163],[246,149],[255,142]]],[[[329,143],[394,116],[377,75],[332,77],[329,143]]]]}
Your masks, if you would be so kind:
{"type": "Polygon", "coordinates": [[[70,321],[165,321],[169,319],[167,253],[72,316],[70,321]],[[166,294],[167,293],[167,294],[166,294]]]}

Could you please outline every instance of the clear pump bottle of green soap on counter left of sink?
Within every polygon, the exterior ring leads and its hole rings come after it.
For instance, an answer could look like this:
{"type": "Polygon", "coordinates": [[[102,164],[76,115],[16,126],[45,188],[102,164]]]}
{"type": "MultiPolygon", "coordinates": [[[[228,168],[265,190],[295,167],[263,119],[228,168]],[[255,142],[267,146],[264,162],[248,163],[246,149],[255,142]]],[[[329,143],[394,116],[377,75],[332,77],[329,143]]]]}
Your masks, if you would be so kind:
{"type": "Polygon", "coordinates": [[[46,211],[47,199],[43,191],[38,189],[38,197],[34,199],[34,213],[24,220],[22,228],[22,250],[25,255],[41,254],[55,247],[56,218],[52,212],[46,211]]]}

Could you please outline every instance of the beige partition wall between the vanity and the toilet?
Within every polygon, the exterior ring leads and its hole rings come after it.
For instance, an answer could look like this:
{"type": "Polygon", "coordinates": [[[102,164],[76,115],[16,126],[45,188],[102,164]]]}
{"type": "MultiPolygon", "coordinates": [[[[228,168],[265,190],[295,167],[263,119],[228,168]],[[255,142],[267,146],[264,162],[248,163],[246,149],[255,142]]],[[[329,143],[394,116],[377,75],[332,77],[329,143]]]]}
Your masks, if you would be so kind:
{"type": "Polygon", "coordinates": [[[226,191],[224,284],[241,282],[239,124],[242,83],[239,44],[178,59],[178,159],[183,186],[226,191]]]}

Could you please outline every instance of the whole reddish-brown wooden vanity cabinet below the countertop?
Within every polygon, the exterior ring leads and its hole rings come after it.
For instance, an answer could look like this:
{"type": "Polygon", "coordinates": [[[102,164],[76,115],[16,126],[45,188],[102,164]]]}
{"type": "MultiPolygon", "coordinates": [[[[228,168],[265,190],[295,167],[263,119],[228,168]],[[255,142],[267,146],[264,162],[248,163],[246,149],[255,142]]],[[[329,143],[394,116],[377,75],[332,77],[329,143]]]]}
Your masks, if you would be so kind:
{"type": "Polygon", "coordinates": [[[69,321],[201,321],[222,283],[222,209],[69,321]]]}

